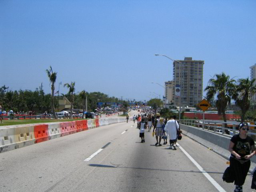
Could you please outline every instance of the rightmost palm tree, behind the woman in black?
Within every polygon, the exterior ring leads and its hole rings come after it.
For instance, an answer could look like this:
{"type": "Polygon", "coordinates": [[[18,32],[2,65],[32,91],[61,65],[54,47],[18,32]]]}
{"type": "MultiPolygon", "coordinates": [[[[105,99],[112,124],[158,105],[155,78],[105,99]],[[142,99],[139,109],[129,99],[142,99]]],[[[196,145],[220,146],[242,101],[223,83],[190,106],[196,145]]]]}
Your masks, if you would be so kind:
{"type": "Polygon", "coordinates": [[[232,99],[235,100],[237,106],[241,108],[241,121],[244,122],[246,112],[250,108],[250,98],[256,92],[256,86],[253,85],[255,79],[239,79],[238,85],[233,93],[232,99]]]}

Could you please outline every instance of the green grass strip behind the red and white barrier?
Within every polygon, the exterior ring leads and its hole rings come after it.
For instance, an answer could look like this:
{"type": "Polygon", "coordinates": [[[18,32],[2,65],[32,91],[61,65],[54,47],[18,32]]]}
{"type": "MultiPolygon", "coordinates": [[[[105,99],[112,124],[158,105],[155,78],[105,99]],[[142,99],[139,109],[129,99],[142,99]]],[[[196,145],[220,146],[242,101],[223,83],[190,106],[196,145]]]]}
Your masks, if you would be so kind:
{"type": "Polygon", "coordinates": [[[79,121],[79,120],[87,120],[87,119],[22,119],[22,120],[13,119],[13,120],[3,120],[4,123],[0,123],[0,126],[79,121]]]}

